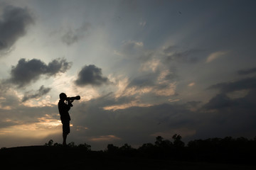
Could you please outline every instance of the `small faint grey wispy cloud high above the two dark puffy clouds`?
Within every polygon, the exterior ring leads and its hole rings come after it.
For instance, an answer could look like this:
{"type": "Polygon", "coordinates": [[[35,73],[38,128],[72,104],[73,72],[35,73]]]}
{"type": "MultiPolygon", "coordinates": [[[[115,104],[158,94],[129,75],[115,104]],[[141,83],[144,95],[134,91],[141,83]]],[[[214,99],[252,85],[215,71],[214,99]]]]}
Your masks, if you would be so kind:
{"type": "Polygon", "coordinates": [[[85,37],[85,33],[91,28],[91,24],[90,23],[84,23],[80,28],[76,29],[76,30],[68,30],[68,32],[66,32],[61,40],[63,41],[63,43],[65,43],[66,45],[73,45],[75,42],[78,42],[79,40],[81,40],[82,38],[85,37]]]}

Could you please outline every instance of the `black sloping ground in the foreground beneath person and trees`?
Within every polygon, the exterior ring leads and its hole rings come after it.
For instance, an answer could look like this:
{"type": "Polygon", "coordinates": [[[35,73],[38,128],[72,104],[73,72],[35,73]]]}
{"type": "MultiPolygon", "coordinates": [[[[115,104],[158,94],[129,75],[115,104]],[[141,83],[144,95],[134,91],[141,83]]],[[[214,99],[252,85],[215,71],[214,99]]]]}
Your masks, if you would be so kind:
{"type": "Polygon", "coordinates": [[[254,164],[157,159],[60,146],[2,148],[0,162],[6,169],[256,169],[254,164]]]}

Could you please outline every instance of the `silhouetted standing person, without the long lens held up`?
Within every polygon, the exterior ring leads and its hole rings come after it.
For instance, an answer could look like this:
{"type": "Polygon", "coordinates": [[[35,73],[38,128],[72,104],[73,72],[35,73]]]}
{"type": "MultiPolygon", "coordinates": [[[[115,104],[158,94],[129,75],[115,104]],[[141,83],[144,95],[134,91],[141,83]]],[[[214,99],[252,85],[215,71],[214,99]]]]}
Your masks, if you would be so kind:
{"type": "Polygon", "coordinates": [[[63,145],[67,145],[67,136],[70,133],[70,115],[68,111],[70,110],[70,107],[72,106],[72,103],[68,101],[68,104],[65,103],[65,100],[67,99],[67,95],[64,93],[60,94],[60,101],[58,102],[58,110],[60,113],[60,120],[63,124],[63,145]]]}

